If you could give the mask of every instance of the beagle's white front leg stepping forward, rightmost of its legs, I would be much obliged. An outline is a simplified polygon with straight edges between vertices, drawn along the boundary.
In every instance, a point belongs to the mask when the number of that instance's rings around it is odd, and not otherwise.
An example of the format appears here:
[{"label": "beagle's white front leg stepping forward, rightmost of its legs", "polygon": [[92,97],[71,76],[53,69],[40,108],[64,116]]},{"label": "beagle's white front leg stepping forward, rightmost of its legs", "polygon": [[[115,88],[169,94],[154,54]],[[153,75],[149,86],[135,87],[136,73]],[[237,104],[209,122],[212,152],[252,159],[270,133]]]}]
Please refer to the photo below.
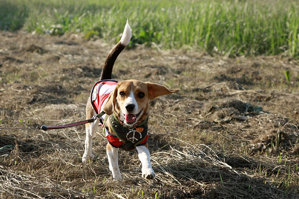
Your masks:
[{"label": "beagle's white front leg stepping forward, rightmost of its legs", "polygon": [[150,158],[149,158],[149,149],[147,145],[137,146],[138,157],[142,163],[142,177],[145,179],[154,179],[155,174],[151,168]]}]

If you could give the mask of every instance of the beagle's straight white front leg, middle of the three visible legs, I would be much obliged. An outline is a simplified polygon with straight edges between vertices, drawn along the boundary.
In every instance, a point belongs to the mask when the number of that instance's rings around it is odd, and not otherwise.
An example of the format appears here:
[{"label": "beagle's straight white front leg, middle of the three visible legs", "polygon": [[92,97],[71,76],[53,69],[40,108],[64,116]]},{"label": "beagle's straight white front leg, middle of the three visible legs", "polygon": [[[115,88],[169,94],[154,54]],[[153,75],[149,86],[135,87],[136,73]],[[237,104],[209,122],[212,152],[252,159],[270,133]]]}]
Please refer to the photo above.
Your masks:
[{"label": "beagle's straight white front leg, middle of the three visible legs", "polygon": [[112,178],[114,180],[121,180],[122,175],[118,166],[118,151],[119,148],[113,147],[111,144],[107,144],[106,153],[109,161],[109,169],[112,172]]}]

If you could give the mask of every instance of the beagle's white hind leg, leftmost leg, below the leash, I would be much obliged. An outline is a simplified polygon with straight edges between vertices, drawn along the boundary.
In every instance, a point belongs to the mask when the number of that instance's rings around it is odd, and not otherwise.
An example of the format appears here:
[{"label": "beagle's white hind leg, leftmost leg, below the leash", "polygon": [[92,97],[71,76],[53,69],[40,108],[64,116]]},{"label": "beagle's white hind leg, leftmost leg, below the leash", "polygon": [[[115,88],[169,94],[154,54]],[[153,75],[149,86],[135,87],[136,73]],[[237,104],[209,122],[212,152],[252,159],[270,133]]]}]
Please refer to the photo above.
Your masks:
[{"label": "beagle's white hind leg, leftmost leg, below the leash", "polygon": [[85,150],[82,157],[82,162],[87,162],[91,157],[92,138],[99,127],[99,120],[97,119],[93,123],[85,124],[86,138],[85,138]]}]

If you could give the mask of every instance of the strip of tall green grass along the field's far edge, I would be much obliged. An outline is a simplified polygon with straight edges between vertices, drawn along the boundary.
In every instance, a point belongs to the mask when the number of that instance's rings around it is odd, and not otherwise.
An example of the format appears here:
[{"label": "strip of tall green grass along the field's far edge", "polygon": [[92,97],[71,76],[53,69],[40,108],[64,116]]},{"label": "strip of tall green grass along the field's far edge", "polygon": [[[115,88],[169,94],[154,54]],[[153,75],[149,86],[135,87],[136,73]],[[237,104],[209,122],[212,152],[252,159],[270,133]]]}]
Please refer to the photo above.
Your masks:
[{"label": "strip of tall green grass along the field's far edge", "polygon": [[131,45],[193,48],[226,55],[299,56],[299,3],[293,0],[1,0],[0,29],[108,42],[126,19]]}]

